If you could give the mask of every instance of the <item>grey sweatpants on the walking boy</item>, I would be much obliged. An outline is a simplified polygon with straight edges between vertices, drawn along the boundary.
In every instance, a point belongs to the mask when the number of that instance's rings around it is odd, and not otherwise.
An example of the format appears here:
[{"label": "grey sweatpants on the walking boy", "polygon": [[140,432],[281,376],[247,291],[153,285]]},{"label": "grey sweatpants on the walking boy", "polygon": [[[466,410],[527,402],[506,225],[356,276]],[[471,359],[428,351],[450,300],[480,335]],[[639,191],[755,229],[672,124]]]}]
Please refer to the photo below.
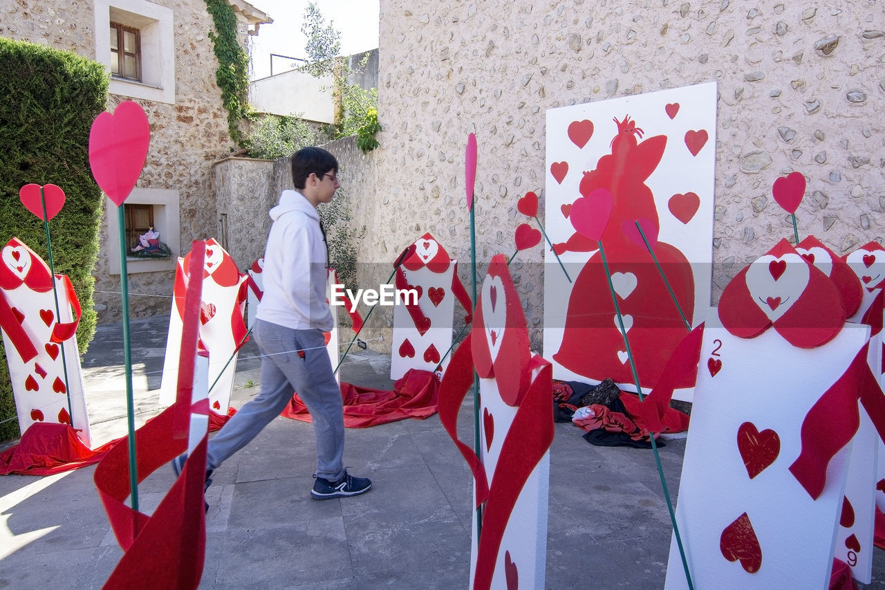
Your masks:
[{"label": "grey sweatpants on the walking boy", "polygon": [[[317,445],[317,477],[337,481],[344,476],[344,415],[341,389],[332,373],[323,334],[292,330],[258,320],[254,330],[261,359],[261,392],[225,423],[209,441],[206,469],[214,470],[227,457],[249,444],[280,415],[292,392],[311,412]],[[304,359],[296,351],[304,351]]]}]

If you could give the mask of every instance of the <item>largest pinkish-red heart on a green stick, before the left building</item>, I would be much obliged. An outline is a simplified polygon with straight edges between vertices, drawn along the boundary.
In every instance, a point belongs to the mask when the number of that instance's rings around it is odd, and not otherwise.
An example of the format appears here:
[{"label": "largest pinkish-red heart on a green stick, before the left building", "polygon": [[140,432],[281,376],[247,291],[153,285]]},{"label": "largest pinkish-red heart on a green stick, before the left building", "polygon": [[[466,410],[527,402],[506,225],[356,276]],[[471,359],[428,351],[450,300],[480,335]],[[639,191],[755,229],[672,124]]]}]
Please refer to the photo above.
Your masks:
[{"label": "largest pinkish-red heart on a green stick, before the left building", "polygon": [[142,174],[150,145],[148,116],[127,100],[111,113],[100,113],[89,129],[89,166],[98,186],[117,206]]}]

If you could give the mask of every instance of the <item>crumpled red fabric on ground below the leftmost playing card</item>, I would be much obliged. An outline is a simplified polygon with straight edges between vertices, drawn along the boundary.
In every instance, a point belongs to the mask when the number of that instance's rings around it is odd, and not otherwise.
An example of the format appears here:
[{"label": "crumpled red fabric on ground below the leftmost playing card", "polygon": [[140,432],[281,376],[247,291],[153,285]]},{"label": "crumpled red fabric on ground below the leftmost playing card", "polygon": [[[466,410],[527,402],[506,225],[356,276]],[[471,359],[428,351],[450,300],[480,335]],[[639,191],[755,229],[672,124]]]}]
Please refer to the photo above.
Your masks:
[{"label": "crumpled red fabric on ground below the leftmost playing card", "polygon": [[46,476],[101,461],[120,439],[90,449],[69,424],[35,422],[16,446],[0,453],[0,475]]}]

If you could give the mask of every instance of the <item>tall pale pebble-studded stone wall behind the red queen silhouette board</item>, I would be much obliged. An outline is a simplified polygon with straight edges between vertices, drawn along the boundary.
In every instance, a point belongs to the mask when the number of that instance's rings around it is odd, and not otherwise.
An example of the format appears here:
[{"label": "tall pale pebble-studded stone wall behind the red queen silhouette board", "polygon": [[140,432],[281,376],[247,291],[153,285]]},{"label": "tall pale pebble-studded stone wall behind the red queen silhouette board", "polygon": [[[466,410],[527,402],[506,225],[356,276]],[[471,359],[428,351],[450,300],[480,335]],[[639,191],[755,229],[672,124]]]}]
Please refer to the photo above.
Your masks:
[{"label": "tall pale pebble-studded stone wall behind the red queen silhouette board", "polygon": [[[360,260],[390,260],[425,231],[469,259],[471,132],[480,260],[509,255],[517,199],[534,190],[543,200],[547,109],[709,81],[719,89],[714,302],[739,268],[791,235],[771,186],[793,170],[808,179],[801,236],[840,254],[881,241],[883,23],[881,0],[381,0],[382,182]],[[542,248],[517,260],[540,350]]]}]

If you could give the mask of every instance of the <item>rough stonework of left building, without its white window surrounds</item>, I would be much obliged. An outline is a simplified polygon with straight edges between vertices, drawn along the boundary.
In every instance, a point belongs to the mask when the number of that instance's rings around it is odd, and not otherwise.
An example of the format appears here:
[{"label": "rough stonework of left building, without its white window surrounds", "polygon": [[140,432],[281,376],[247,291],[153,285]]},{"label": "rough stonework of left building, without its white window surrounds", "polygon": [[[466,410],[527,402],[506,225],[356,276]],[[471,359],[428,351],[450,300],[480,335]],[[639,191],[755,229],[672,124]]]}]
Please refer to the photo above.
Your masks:
[{"label": "rough stonework of left building, without its white window surrounds", "polygon": [[[194,239],[213,237],[217,228],[212,193],[212,162],[233,148],[227,134],[227,111],[215,84],[217,60],[209,31],[212,16],[203,0],[154,0],[174,11],[175,104],[137,100],[150,121],[150,151],[136,186],[179,191],[181,248]],[[237,13],[245,46],[247,23]],[[0,9],[0,35],[95,58],[96,32],[92,2],[16,0]],[[112,96],[112,110],[127,97]],[[162,236],[161,236],[162,239]],[[107,263],[108,228],[101,229],[102,251],[94,271],[99,322],[120,316],[119,268]],[[173,252],[175,255],[185,252]],[[130,275],[131,314],[168,314],[173,271]]]}]

